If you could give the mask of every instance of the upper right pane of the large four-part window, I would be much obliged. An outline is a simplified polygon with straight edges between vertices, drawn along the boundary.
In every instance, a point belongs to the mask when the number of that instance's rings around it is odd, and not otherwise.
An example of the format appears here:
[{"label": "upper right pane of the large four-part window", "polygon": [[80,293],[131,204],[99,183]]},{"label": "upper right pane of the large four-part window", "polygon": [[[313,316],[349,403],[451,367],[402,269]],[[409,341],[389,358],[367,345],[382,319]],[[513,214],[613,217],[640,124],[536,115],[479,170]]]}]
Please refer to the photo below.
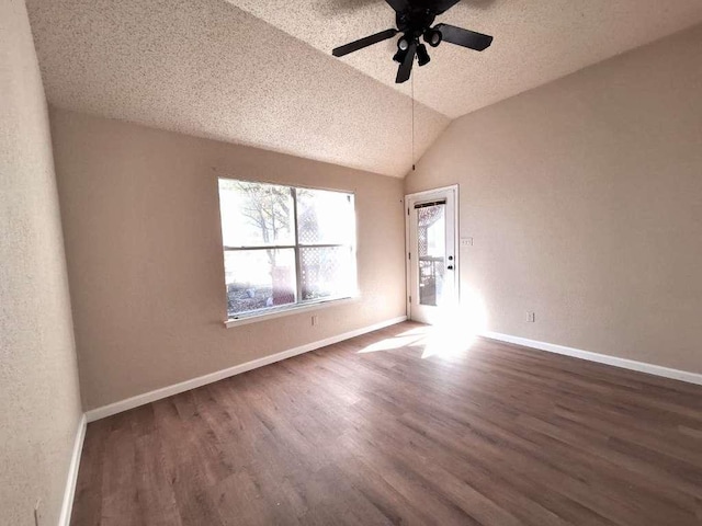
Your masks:
[{"label": "upper right pane of the large four-part window", "polygon": [[297,188],[299,244],[353,244],[353,195]]}]

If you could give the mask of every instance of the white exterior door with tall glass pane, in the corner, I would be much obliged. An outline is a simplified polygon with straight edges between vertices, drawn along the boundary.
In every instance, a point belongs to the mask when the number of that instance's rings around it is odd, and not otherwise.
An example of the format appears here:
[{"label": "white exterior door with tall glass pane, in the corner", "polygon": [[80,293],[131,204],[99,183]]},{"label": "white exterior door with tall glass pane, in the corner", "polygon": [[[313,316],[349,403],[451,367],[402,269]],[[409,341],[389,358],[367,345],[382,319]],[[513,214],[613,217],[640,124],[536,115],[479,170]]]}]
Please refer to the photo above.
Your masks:
[{"label": "white exterior door with tall glass pane, in the corner", "polygon": [[458,187],[407,195],[407,312],[434,324],[458,305]]}]

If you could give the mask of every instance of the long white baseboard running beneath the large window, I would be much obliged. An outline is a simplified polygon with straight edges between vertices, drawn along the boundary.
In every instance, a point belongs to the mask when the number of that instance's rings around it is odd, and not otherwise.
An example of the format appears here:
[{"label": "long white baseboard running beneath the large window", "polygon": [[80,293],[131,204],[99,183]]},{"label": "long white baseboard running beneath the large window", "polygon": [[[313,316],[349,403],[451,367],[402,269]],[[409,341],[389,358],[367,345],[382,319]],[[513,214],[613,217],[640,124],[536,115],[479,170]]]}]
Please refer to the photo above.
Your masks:
[{"label": "long white baseboard running beneath the large window", "polygon": [[240,375],[241,373],[246,373],[247,370],[256,369],[258,367],[263,367],[264,365],[280,362],[281,359],[297,356],[298,354],[307,353],[309,351],[325,347],[333,343],[339,343],[339,342],[342,342],[343,340],[349,340],[350,338],[360,336],[361,334],[365,334],[367,332],[377,331],[378,329],[384,329],[386,327],[400,323],[406,319],[407,319],[406,316],[400,316],[398,318],[385,320],[370,327],[356,329],[355,331],[344,332],[343,334],[327,338],[325,340],[319,340],[313,343],[307,343],[305,345],[301,345],[299,347],[288,348],[287,351],[283,351],[281,353],[271,354],[270,356],[263,356],[262,358],[258,358],[258,359],[252,359],[251,362],[235,365],[234,367],[228,367],[226,369],[217,370],[208,375],[199,376],[197,378],[192,378],[190,380],[181,381],[180,384],[174,384],[172,386],[163,387],[161,389],[156,389],[154,391],[145,392],[143,395],[137,395],[136,397],[127,398],[126,400],[121,400],[118,402],[114,402],[109,405],[103,405],[102,408],[91,409],[90,411],[86,412],[86,416],[88,419],[88,422],[94,422],[95,420],[104,419],[106,416],[111,416],[113,414],[117,414],[123,411],[127,411],[129,409],[138,408],[139,405],[155,402],[156,400],[160,400],[162,398],[168,398],[173,395],[178,395],[180,392],[189,391],[197,387],[206,386],[207,384],[213,384],[215,381],[229,378],[230,376]]}]

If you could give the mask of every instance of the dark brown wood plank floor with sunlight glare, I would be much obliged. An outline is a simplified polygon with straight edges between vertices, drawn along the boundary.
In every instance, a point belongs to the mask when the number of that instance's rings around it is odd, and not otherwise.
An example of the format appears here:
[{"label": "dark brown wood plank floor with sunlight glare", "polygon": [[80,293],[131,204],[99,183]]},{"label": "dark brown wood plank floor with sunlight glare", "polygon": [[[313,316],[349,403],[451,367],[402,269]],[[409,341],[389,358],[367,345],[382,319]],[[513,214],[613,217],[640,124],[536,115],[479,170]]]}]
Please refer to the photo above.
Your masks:
[{"label": "dark brown wood plank floor with sunlight glare", "polygon": [[91,423],[71,524],[702,524],[702,388],[424,331]]}]

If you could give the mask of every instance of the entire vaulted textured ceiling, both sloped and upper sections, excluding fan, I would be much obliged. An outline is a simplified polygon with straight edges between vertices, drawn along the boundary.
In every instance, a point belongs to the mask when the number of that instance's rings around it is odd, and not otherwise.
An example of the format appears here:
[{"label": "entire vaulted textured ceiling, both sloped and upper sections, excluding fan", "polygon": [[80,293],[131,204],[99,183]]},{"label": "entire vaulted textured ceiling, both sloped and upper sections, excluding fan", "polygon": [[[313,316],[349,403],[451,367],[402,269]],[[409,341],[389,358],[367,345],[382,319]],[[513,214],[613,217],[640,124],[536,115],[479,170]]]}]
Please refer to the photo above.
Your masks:
[{"label": "entire vaulted textured ceiling, both sloped and upper sections, excluding fan", "polygon": [[699,0],[463,0],[450,44],[394,83],[382,0],[27,0],[49,103],[403,176],[452,118],[702,21]]}]

